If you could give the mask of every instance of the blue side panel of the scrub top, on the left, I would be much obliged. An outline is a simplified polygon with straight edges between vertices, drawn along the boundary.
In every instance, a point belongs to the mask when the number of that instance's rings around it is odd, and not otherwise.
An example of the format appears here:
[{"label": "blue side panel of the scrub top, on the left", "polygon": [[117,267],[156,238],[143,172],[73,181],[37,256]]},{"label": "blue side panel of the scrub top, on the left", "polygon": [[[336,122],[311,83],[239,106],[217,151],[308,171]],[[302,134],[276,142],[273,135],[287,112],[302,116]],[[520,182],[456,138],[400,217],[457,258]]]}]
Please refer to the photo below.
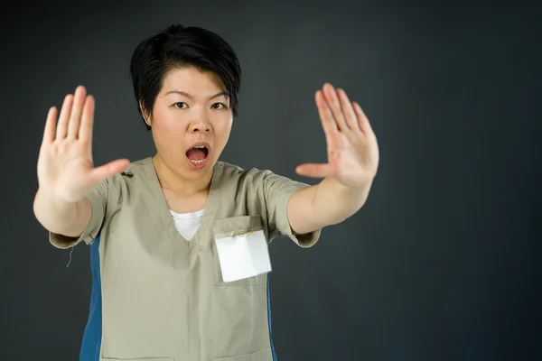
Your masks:
[{"label": "blue side panel of the scrub top, on the left", "polygon": [[83,334],[79,361],[99,361],[102,329],[101,278],[99,273],[99,240],[96,237],[90,245],[90,272],[92,273],[92,292],[90,294],[89,321]]}]

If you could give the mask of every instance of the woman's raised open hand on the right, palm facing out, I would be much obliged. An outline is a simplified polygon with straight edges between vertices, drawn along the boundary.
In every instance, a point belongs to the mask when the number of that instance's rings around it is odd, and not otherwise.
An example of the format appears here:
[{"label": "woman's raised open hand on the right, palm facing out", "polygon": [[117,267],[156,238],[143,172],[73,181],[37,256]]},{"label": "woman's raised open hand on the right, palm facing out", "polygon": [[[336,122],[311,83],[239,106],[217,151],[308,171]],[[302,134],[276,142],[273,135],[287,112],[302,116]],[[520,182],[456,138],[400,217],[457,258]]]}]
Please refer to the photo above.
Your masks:
[{"label": "woman's raised open hand on the right, palm facing out", "polygon": [[351,188],[369,185],[377,174],[378,143],[369,119],[344,90],[324,84],[315,94],[327,143],[328,162],[305,163],[295,171],[313,178],[333,178]]}]

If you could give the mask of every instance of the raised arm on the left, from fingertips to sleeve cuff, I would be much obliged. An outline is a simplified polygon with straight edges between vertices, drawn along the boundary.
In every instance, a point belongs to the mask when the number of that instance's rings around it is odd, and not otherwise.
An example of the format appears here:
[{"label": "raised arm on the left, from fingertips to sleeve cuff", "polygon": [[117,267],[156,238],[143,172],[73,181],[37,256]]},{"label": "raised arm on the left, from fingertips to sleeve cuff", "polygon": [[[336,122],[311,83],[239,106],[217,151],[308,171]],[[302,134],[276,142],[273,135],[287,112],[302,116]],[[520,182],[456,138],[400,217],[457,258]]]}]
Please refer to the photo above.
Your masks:
[{"label": "raised arm on the left, from fingertips to sleeve cuff", "polygon": [[107,204],[107,178],[126,169],[128,160],[94,167],[94,97],[78,87],[58,114],[47,115],[38,158],[38,191],[33,212],[50,232],[53,245],[66,248],[91,241],[101,227]]}]

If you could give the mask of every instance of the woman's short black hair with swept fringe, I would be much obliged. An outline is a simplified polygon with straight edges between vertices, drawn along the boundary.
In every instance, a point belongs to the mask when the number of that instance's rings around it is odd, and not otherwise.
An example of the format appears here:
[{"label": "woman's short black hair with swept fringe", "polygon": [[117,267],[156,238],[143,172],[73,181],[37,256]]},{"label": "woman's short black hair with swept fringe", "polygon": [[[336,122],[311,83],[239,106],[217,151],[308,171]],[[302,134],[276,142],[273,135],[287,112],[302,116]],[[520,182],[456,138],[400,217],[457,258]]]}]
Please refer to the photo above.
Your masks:
[{"label": "woman's short black hair with swept fringe", "polygon": [[[130,77],[139,114],[142,117],[144,113],[152,114],[154,101],[169,70],[191,66],[220,77],[228,92],[233,116],[237,116],[241,67],[235,51],[215,32],[181,24],[170,25],[135,47]],[[146,123],[145,126],[151,129]]]}]

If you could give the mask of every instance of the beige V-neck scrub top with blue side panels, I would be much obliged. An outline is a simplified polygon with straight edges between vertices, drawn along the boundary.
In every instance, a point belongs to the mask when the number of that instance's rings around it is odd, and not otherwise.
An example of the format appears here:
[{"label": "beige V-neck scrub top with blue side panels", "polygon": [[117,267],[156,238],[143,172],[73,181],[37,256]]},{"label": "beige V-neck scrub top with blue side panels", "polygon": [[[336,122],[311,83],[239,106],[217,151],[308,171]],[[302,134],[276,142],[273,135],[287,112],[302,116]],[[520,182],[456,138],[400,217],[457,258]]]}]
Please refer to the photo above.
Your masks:
[{"label": "beige V-neck scrub top with blue side panels", "polygon": [[263,230],[314,245],[321,230],[295,236],[286,208],[307,184],[227,162],[213,169],[201,226],[187,242],[174,226],[152,159],[132,162],[88,197],[79,238],[90,245],[92,296],[81,360],[274,361],[268,273],[223,282],[215,235]]}]

